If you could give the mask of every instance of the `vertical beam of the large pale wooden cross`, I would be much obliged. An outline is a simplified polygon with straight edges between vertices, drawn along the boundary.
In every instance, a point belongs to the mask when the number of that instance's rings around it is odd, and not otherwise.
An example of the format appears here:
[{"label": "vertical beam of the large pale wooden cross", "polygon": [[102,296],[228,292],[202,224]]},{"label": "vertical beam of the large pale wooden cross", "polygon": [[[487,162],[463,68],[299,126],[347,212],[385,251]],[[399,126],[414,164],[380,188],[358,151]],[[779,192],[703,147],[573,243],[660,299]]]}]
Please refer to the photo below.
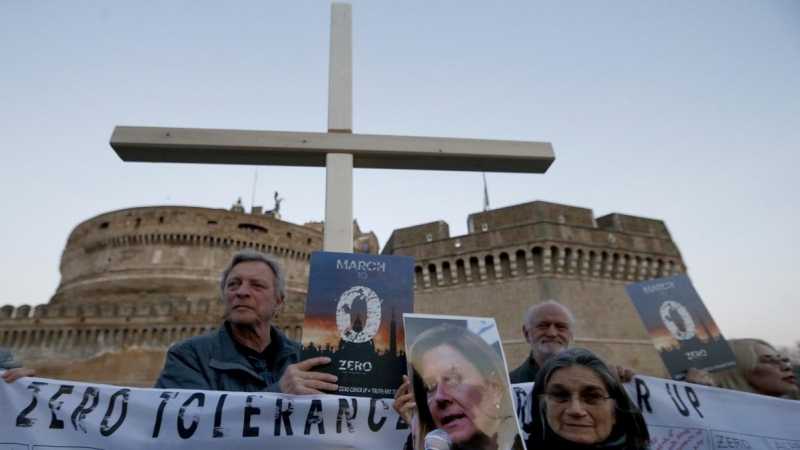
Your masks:
[{"label": "vertical beam of the large pale wooden cross", "polygon": [[[331,5],[328,132],[353,132],[352,6]],[[326,252],[353,252],[353,155],[328,153],[325,180]]]}]

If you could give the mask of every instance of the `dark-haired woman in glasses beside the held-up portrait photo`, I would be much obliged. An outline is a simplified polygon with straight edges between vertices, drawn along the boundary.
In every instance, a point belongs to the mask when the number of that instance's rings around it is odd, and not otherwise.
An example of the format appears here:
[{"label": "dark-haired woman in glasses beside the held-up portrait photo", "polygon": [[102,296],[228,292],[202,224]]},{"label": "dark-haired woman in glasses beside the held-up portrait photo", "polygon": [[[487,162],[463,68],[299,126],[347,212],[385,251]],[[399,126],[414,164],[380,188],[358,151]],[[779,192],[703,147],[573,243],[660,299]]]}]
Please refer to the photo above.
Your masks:
[{"label": "dark-haired woman in glasses beside the held-up portrait photo", "polygon": [[529,449],[649,448],[642,414],[609,366],[588,350],[565,350],[547,361],[531,398],[532,421],[524,427]]}]

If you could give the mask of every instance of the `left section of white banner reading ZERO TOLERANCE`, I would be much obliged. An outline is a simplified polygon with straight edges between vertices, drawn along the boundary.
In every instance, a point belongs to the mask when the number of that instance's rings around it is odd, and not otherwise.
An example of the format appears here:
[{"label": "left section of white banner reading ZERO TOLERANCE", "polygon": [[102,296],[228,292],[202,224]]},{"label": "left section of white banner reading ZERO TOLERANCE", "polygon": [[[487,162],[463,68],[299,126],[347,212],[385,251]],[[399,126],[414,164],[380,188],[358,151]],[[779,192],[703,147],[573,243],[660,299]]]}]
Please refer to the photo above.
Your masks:
[{"label": "left section of white banner reading ZERO TOLERANCE", "polygon": [[392,400],[0,381],[0,450],[401,450]]}]

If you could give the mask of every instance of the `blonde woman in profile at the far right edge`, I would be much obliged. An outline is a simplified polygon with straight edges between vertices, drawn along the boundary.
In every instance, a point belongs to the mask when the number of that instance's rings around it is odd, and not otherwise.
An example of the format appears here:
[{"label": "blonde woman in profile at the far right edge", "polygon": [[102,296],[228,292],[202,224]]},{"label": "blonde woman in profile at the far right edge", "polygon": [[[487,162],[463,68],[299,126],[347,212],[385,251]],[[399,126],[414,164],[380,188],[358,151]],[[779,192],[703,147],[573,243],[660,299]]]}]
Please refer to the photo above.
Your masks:
[{"label": "blonde woman in profile at the far right edge", "polygon": [[772,397],[797,394],[797,379],[789,358],[774,347],[759,339],[729,339],[728,344],[739,367],[712,373],[714,385]]}]

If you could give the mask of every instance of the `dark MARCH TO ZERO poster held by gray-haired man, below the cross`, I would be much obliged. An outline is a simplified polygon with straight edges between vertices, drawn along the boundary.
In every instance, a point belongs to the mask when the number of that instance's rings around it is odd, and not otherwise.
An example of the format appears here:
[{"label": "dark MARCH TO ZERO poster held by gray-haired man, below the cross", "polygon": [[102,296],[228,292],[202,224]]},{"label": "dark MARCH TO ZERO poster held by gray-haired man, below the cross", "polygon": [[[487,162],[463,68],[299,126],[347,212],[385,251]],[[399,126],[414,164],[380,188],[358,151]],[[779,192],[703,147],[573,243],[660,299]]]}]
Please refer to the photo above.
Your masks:
[{"label": "dark MARCH TO ZERO poster held by gray-haired man, below the cross", "polygon": [[337,394],[392,398],[413,309],[413,258],[313,252],[300,358],[331,358],[313,370],[339,377]]}]

